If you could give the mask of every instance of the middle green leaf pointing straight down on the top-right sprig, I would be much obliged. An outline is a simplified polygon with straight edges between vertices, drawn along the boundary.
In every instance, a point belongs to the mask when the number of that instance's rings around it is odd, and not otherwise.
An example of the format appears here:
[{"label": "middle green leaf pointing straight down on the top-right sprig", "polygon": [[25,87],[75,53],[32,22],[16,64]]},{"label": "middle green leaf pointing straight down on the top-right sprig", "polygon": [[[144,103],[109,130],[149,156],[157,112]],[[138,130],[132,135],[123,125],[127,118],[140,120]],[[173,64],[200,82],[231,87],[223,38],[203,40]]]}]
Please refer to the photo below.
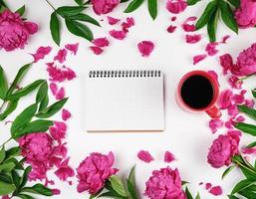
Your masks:
[{"label": "middle green leaf pointing straight down on the top-right sprig", "polygon": [[215,9],[215,11],[212,13],[210,20],[207,24],[207,32],[208,32],[210,42],[216,41],[218,18],[219,18],[219,10]]}]

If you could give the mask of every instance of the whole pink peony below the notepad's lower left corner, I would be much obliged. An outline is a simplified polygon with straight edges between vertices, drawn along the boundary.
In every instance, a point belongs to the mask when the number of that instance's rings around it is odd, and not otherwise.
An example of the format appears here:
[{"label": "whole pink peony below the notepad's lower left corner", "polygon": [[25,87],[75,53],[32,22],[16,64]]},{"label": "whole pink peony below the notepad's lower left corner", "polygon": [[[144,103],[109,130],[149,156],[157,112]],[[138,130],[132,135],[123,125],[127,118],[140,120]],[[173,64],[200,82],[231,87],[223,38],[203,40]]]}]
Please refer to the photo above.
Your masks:
[{"label": "whole pink peony below the notepad's lower left corner", "polygon": [[112,168],[114,161],[113,152],[108,155],[94,152],[86,157],[77,168],[78,192],[88,191],[90,194],[96,194],[101,190],[105,181],[118,172],[117,168]]}]

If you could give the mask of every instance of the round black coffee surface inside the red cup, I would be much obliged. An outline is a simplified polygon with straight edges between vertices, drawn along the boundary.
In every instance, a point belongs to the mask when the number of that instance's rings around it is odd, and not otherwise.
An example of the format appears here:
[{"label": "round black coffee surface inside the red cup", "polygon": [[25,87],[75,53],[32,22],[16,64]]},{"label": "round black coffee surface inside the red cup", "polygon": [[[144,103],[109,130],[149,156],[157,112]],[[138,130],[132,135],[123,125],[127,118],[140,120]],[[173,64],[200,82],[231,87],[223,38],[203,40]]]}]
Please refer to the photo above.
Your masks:
[{"label": "round black coffee surface inside the red cup", "polygon": [[213,98],[211,83],[203,76],[191,76],[181,87],[181,98],[192,108],[204,108],[210,104]]}]

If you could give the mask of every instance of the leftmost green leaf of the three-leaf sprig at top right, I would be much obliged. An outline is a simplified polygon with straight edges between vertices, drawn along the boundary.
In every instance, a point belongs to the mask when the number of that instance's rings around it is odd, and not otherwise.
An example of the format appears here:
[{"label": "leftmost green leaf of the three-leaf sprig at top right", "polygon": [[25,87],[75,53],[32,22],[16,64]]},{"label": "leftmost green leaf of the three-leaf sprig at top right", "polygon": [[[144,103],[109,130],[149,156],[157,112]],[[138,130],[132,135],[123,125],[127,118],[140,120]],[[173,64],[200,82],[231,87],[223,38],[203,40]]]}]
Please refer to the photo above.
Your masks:
[{"label": "leftmost green leaf of the three-leaf sprig at top right", "polygon": [[208,3],[208,5],[204,9],[201,17],[198,19],[198,21],[195,24],[196,30],[201,29],[208,23],[208,21],[210,20],[210,18],[212,16],[212,13],[214,13],[216,8],[217,8],[216,0],[213,0],[210,3]]}]

